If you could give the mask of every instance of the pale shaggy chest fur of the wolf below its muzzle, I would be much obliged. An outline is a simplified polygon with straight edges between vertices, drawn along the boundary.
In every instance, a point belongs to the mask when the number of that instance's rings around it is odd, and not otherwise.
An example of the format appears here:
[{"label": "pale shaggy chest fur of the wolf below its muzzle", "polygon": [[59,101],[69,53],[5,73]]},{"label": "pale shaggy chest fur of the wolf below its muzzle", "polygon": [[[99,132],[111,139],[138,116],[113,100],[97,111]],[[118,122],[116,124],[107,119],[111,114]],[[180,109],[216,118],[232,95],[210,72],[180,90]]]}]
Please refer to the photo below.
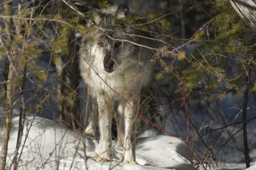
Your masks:
[{"label": "pale shaggy chest fur of the wolf below its muzzle", "polygon": [[[83,59],[82,59],[83,60]],[[94,68],[97,73],[85,61],[81,61],[81,75],[85,83],[89,86],[92,93],[105,93],[111,98],[116,98],[117,93],[121,96],[138,94],[142,85],[144,85],[149,76],[146,72],[140,72],[136,68],[124,69],[118,68],[112,73],[107,73],[101,68]],[[111,88],[115,91],[113,91]]]}]

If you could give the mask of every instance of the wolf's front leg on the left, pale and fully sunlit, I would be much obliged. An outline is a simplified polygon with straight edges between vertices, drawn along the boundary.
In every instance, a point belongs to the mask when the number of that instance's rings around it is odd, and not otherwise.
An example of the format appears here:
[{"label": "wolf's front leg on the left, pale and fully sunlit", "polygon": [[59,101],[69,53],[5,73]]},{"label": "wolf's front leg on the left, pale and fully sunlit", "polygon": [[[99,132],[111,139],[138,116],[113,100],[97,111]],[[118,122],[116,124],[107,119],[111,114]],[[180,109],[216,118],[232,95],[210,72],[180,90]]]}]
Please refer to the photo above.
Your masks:
[{"label": "wolf's front leg on the left, pale and fully sunlit", "polygon": [[97,97],[99,106],[99,125],[100,125],[100,143],[99,143],[99,158],[98,162],[106,162],[111,159],[112,152],[112,137],[111,137],[111,122],[113,114],[113,102],[107,101],[103,97]]}]

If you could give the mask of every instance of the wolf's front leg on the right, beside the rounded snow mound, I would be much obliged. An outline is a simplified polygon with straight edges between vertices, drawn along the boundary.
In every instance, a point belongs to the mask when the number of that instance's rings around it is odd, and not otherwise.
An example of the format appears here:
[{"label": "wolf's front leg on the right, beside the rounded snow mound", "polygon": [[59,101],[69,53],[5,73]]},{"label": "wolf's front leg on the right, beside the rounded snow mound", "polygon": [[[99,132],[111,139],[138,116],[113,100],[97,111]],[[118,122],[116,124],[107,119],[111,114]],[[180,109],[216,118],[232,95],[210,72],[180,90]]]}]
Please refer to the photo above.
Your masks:
[{"label": "wolf's front leg on the right, beside the rounded snow mound", "polygon": [[[130,102],[133,106],[135,106],[135,101]],[[136,108],[136,106],[135,106]],[[135,111],[128,104],[125,103],[125,134],[123,141],[123,162],[124,163],[132,163],[137,164],[135,160],[135,140],[133,135],[133,124],[135,123]]]}]

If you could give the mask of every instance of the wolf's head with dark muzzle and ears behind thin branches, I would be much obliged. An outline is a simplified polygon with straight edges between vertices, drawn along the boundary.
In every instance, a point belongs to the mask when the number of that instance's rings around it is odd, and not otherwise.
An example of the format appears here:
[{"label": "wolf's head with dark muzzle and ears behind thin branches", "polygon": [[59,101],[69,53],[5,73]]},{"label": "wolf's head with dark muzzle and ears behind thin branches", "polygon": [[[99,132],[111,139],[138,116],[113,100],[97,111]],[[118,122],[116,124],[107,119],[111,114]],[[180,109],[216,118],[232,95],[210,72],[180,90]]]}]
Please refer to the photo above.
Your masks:
[{"label": "wolf's head with dark muzzle and ears behind thin branches", "polygon": [[133,15],[126,5],[105,8],[102,9],[102,13],[104,15],[92,15],[93,21],[99,27],[88,24],[88,27],[93,29],[83,43],[86,51],[90,52],[89,56],[94,65],[97,65],[98,69],[111,73],[131,63],[132,53],[135,50],[131,42],[136,42],[137,38],[132,35],[134,30],[131,27],[122,24],[125,18]]}]

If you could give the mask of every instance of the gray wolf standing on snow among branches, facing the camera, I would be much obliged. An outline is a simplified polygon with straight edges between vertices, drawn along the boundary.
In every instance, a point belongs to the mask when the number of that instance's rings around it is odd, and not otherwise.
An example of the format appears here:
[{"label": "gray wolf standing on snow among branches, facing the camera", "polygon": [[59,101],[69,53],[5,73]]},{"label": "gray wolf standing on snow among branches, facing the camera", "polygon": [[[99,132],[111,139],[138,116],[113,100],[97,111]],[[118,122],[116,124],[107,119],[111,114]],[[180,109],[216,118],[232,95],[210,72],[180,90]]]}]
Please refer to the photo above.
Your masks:
[{"label": "gray wolf standing on snow among branches, facing the camera", "polygon": [[92,15],[98,27],[87,24],[89,31],[83,37],[80,49],[81,76],[92,95],[92,101],[97,101],[98,106],[98,116],[91,116],[90,125],[85,131],[94,133],[95,120],[99,119],[99,156],[96,160],[110,161],[111,122],[115,113],[117,144],[123,147],[123,162],[136,164],[133,139],[136,111],[120,96],[137,108],[140,89],[148,84],[152,72],[150,61],[154,51],[145,46],[153,47],[154,42],[146,38],[150,35],[144,31],[117,22],[135,15],[128,6],[114,5],[102,9],[102,13],[104,15]]}]

